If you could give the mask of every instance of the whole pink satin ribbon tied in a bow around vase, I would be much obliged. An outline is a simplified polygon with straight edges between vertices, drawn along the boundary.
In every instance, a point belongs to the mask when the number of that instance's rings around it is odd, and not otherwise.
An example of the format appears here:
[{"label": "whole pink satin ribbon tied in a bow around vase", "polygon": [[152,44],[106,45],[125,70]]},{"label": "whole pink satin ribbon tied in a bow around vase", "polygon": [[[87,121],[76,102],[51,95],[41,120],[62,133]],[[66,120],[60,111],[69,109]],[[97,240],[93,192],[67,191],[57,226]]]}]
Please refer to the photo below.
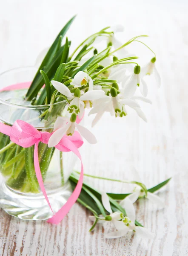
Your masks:
[{"label": "whole pink satin ribbon tied in a bow around vase", "polygon": [[[30,84],[31,82],[13,84],[9,87],[6,87],[6,89],[3,89],[3,90],[15,90],[15,89],[26,88]],[[77,120],[77,122],[79,121],[80,120]],[[10,140],[12,142],[16,143],[17,145],[20,145],[23,148],[29,148],[32,145],[34,145],[35,173],[37,176],[40,189],[43,192],[43,195],[51,211],[53,212],[48,196],[46,194],[45,187],[44,187],[43,178],[40,171],[39,159],[38,159],[38,144],[40,142],[48,144],[48,140],[51,134],[46,131],[45,132],[38,131],[32,125],[22,120],[17,120],[16,122],[14,122],[12,126],[0,123],[0,132],[10,136]],[[80,148],[81,145],[83,145],[83,140],[80,134],[77,131],[75,131],[73,136],[64,135],[63,138],[60,140],[60,142],[55,146],[55,148],[57,148],[62,152],[72,151],[74,154],[76,154],[81,161],[81,172],[80,172],[80,179],[78,180],[77,186],[75,187],[71,196],[68,198],[68,201],[66,202],[66,204],[64,204],[63,207],[59,209],[59,211],[56,212],[55,214],[53,212],[54,215],[50,219],[48,219],[48,222],[51,224],[59,224],[60,221],[62,221],[63,218],[66,216],[66,214],[69,212],[73,204],[77,201],[80,195],[82,185],[83,185],[83,163],[82,163],[82,158],[81,158],[80,152],[78,151],[78,148]]]}]

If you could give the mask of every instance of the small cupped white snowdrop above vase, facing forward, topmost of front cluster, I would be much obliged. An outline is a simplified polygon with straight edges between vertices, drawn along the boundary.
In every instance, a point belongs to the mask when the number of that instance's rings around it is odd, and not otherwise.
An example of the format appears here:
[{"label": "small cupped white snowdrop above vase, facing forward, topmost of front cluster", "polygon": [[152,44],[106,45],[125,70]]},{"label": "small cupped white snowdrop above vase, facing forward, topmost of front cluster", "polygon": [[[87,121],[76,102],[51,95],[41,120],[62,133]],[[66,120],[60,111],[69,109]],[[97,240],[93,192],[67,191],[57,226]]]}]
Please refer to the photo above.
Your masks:
[{"label": "small cupped white snowdrop above vase, facing forward, topmost of front cluster", "polygon": [[93,80],[87,73],[79,71],[75,76],[73,81],[70,83],[74,87],[81,87],[83,85],[89,84],[89,90],[93,90]]}]

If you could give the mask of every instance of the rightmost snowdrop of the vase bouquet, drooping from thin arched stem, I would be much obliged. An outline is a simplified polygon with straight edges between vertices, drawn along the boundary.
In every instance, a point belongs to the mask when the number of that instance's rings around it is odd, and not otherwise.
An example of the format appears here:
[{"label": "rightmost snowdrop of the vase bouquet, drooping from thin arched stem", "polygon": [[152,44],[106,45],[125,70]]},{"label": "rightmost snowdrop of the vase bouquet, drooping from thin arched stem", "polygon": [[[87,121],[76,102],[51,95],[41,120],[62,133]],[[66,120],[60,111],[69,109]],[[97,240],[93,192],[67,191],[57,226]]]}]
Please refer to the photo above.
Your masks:
[{"label": "rightmost snowdrop of the vase bouquet, drooping from thin arched stem", "polygon": [[154,77],[156,79],[157,82],[157,86],[160,87],[161,85],[161,78],[160,78],[160,74],[157,71],[157,68],[155,67],[155,62],[156,62],[156,58],[152,58],[151,61],[145,65],[145,67],[143,67],[142,69],[142,76],[146,76],[146,75],[151,75],[154,74]]}]

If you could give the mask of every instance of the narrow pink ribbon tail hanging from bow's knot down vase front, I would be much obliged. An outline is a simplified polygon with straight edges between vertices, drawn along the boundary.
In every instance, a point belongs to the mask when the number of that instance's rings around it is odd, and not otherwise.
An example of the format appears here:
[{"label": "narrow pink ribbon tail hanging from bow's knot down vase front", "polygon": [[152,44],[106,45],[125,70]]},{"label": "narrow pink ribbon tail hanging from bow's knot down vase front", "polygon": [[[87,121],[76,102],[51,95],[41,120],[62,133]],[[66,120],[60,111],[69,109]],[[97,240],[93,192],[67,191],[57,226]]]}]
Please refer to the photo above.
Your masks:
[{"label": "narrow pink ribbon tail hanging from bow's knot down vase front", "polygon": [[[52,208],[51,208],[51,204],[49,202],[48,196],[46,194],[46,189],[44,187],[44,183],[43,183],[43,177],[41,175],[41,171],[40,171],[40,165],[39,165],[39,156],[38,156],[38,142],[34,144],[34,169],[35,169],[35,173],[37,176],[37,180],[40,186],[41,191],[43,192],[43,195],[51,209],[51,211],[53,212]],[[53,212],[54,214],[54,212]]]}]

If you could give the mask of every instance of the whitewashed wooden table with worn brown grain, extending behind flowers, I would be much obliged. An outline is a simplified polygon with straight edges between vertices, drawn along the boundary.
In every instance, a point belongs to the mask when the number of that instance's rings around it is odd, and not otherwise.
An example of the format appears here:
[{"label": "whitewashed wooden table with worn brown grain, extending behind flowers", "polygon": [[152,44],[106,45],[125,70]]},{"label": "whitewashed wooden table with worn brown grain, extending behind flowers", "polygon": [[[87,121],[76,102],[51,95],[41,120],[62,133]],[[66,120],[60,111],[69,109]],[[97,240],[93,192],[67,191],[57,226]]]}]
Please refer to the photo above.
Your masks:
[{"label": "whitewashed wooden table with worn brown grain, extending behind flowers", "polygon": [[[143,182],[151,187],[173,177],[158,193],[165,209],[140,200],[137,220],[155,233],[153,240],[125,238],[107,240],[102,227],[88,230],[90,213],[75,204],[58,226],[46,221],[20,221],[0,210],[0,255],[2,256],[184,256],[188,254],[188,4],[186,1],[151,3],[140,1],[0,1],[0,71],[34,65],[37,54],[54,40],[66,21],[78,13],[68,32],[76,46],[82,38],[102,27],[125,25],[127,40],[148,34],[156,51],[162,87],[150,85],[150,108],[145,105],[148,123],[134,113],[111,124],[118,131],[110,145],[99,143],[83,148],[85,173],[126,179],[134,165]],[[146,42],[146,41],[145,41]],[[135,43],[148,59],[152,56]],[[146,53],[145,53],[146,52]],[[100,127],[94,132],[99,138]],[[121,126],[120,126],[121,125]],[[109,147],[111,146],[111,148]],[[99,153],[100,150],[100,153]],[[122,183],[87,179],[97,189],[125,192]]]}]

